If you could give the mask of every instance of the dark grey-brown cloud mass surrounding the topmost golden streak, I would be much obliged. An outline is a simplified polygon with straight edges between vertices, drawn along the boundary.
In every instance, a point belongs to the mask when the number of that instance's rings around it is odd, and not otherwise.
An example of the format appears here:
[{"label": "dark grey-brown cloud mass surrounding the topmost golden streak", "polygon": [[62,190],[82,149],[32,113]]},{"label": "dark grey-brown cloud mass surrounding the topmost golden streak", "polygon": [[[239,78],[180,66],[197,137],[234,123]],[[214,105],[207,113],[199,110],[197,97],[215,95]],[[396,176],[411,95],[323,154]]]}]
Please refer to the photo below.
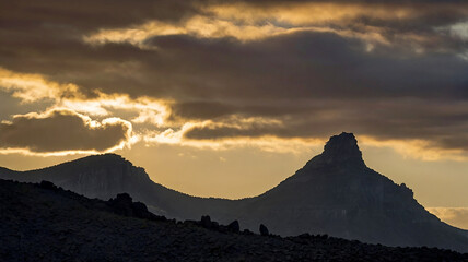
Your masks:
[{"label": "dark grey-brown cloud mass surrounding the topmost golden streak", "polygon": [[[265,7],[279,3],[253,2]],[[437,87],[442,85],[446,88],[444,96],[466,93],[460,87],[466,85],[466,78],[459,73],[467,69],[466,63],[454,52],[416,56],[398,48],[398,45],[366,52],[361,40],[331,33],[299,33],[254,43],[239,43],[232,38],[160,36],[147,41],[159,48],[153,51],[141,50],[130,44],[96,47],[83,43],[84,31],[114,28],[151,19],[178,21],[201,11],[179,1],[157,4],[153,1],[138,4],[93,1],[79,7],[62,1],[34,4],[14,1],[8,4],[12,7],[5,5],[8,8],[3,10],[11,12],[1,16],[4,29],[0,32],[0,64],[15,71],[44,73],[57,81],[70,81],[84,90],[221,100],[253,95],[273,98],[434,96],[438,95]],[[385,28],[384,35],[388,38],[401,31],[424,35],[428,32],[434,34],[433,26],[466,17],[458,15],[465,10],[463,8],[445,10],[437,9],[437,4],[423,4],[420,8],[422,14],[414,15],[409,23],[360,17],[353,29],[365,31],[365,27],[358,28],[359,25],[376,24]],[[424,10],[437,12],[428,14]],[[428,45],[448,49],[456,47],[457,50],[463,47],[463,43],[454,39]]]}]

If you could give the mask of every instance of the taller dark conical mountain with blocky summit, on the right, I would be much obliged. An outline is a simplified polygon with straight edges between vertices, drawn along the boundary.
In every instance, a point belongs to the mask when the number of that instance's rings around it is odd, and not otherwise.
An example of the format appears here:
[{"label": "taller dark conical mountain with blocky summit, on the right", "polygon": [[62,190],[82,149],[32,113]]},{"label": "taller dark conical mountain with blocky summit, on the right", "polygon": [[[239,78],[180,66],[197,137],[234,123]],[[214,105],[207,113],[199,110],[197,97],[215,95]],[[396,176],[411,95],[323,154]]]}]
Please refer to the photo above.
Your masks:
[{"label": "taller dark conical mountain with blocky summit, on the right", "polygon": [[253,200],[248,217],[262,217],[282,235],[315,231],[393,246],[468,247],[465,233],[426,212],[409,188],[366,167],[348,133],[332,136],[323,154]]}]

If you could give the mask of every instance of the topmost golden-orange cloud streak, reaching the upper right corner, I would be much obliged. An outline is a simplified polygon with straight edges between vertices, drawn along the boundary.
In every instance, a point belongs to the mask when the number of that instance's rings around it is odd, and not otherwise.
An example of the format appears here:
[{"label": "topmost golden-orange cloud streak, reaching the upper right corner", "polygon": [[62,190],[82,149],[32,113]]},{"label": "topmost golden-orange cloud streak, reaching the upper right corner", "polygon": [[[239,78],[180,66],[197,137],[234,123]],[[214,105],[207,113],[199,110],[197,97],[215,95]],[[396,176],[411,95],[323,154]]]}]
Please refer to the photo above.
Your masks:
[{"label": "topmost golden-orange cloud streak, reaching the upper right corner", "polygon": [[446,51],[457,49],[463,41],[434,27],[455,28],[468,14],[467,4],[446,1],[406,4],[395,1],[212,1],[197,7],[198,12],[192,16],[176,23],[152,20],[128,27],[100,29],[83,39],[90,44],[130,43],[152,48],[145,45],[147,39],[166,35],[251,41],[296,32],[329,32],[361,39],[367,50],[383,45],[406,46],[418,52]]}]

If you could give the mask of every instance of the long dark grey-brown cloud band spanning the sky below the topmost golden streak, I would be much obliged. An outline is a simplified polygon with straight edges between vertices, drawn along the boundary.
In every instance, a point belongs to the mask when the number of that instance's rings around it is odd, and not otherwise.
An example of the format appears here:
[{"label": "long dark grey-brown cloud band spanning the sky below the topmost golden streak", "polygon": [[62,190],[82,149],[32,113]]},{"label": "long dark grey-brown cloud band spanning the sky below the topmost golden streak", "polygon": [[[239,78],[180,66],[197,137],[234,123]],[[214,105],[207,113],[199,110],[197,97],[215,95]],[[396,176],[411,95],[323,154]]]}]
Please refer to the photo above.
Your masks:
[{"label": "long dark grey-brown cloud band spanning the sky below the topmost golden streak", "polygon": [[[8,38],[5,38],[8,39]],[[7,68],[43,72],[84,90],[187,99],[317,96],[466,96],[466,61],[452,53],[366,52],[360,40],[300,33],[239,44],[233,39],[165,36],[160,50],[126,44],[70,49],[2,45]],[[16,46],[11,50],[12,46]],[[5,50],[9,48],[9,50]],[[21,52],[17,50],[23,49]],[[8,67],[8,66],[9,67]],[[339,78],[337,76],[339,75]]]}]

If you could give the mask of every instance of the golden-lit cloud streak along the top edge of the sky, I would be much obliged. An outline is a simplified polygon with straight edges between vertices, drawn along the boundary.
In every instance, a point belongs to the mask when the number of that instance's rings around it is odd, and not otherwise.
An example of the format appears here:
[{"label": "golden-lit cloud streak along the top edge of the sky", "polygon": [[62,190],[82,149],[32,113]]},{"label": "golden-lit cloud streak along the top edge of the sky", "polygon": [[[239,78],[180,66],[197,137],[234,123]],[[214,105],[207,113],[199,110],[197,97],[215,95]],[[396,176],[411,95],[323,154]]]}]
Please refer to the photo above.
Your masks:
[{"label": "golden-lit cloud streak along the top edge of the sky", "polygon": [[393,45],[408,43],[414,51],[423,51],[424,44],[437,41],[424,34],[391,33],[385,26],[363,23],[374,21],[409,21],[431,15],[436,10],[454,10],[468,14],[468,9],[451,4],[361,4],[361,3],[272,3],[250,4],[245,2],[199,5],[199,13],[179,22],[149,21],[121,28],[105,28],[86,35],[84,41],[92,45],[105,43],[130,43],[143,49],[145,40],[155,36],[190,35],[198,38],[232,37],[241,41],[253,41],[295,32],[329,32],[342,37],[359,38],[372,50],[376,44]]}]

